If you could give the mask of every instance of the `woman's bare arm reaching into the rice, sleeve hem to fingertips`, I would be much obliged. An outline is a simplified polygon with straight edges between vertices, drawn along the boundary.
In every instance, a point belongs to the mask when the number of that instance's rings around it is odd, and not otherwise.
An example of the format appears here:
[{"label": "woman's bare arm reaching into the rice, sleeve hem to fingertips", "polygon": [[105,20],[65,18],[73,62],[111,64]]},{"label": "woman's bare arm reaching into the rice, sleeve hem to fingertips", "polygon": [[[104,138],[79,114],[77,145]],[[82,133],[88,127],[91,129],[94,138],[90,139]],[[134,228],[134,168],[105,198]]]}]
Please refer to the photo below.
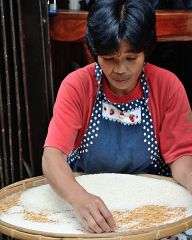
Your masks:
[{"label": "woman's bare arm reaching into the rice, sleeve hem to fingertips", "polygon": [[67,156],[52,147],[44,149],[43,172],[52,188],[75,210],[89,232],[115,231],[115,221],[101,198],[88,193],[75,180]]}]

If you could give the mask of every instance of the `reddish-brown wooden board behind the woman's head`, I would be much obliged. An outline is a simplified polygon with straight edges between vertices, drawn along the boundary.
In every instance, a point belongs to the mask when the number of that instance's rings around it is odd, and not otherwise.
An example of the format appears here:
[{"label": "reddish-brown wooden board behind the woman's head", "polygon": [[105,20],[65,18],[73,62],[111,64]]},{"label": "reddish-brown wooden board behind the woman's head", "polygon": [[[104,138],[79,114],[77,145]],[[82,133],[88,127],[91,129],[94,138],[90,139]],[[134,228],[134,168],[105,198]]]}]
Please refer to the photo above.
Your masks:
[{"label": "reddish-brown wooden board behind the woman's head", "polygon": [[[57,41],[84,41],[86,11],[59,11],[50,16],[50,35]],[[192,11],[157,11],[157,40],[159,42],[192,41]]]}]

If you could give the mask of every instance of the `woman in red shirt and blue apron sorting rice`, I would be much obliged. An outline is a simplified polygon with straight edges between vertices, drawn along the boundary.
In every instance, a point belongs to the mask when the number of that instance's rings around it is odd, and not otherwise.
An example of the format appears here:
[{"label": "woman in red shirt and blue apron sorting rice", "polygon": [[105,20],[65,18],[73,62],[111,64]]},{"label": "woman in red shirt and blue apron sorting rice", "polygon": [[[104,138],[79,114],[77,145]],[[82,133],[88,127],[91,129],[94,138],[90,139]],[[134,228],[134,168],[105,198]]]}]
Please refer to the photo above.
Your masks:
[{"label": "woman in red shirt and blue apron sorting rice", "polygon": [[145,62],[155,41],[148,1],[95,1],[87,42],[97,63],[69,74],[58,92],[43,171],[90,232],[114,231],[115,222],[72,170],[172,174],[192,192],[191,109],[177,77]]}]

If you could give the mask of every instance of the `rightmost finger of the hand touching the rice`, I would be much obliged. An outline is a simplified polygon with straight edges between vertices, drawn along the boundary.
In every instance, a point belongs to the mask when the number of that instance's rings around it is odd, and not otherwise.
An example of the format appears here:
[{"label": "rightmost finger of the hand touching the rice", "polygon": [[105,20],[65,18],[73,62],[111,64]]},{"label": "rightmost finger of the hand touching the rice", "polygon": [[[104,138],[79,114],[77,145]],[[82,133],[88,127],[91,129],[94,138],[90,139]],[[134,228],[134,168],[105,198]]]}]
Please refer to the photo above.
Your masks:
[{"label": "rightmost finger of the hand touching the rice", "polygon": [[112,213],[109,211],[109,209],[106,207],[105,203],[99,206],[99,211],[101,215],[105,218],[105,221],[107,222],[108,226],[110,227],[111,231],[115,231],[117,229],[115,220],[113,218]]}]

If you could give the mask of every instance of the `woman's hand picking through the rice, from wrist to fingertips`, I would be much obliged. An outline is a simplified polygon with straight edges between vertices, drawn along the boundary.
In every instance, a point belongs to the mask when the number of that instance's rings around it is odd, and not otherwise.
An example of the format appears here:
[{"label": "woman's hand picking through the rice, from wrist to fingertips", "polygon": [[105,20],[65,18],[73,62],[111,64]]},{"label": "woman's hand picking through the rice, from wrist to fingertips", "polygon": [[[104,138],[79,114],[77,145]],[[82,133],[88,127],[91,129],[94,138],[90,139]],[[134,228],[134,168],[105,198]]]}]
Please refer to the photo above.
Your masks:
[{"label": "woman's hand picking through the rice, from wrist to fingertips", "polygon": [[115,231],[113,216],[101,198],[83,191],[76,194],[71,205],[87,231],[91,233]]}]

